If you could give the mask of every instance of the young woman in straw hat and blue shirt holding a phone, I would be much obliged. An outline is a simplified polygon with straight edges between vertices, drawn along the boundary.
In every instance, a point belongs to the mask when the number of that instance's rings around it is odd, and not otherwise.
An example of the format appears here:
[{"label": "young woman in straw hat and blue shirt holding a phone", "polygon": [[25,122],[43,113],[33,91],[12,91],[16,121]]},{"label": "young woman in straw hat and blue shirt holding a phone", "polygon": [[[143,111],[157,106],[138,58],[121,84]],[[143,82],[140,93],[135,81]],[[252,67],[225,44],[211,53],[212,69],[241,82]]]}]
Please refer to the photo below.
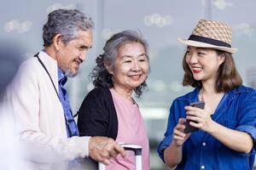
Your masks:
[{"label": "young woman in straw hat and blue shirt holding a phone", "polygon": [[[256,93],[241,85],[231,48],[231,29],[200,20],[183,57],[183,85],[195,88],[172,103],[160,158],[176,169],[252,169],[256,138]],[[205,102],[204,109],[189,106]],[[184,133],[190,121],[199,130]]]}]

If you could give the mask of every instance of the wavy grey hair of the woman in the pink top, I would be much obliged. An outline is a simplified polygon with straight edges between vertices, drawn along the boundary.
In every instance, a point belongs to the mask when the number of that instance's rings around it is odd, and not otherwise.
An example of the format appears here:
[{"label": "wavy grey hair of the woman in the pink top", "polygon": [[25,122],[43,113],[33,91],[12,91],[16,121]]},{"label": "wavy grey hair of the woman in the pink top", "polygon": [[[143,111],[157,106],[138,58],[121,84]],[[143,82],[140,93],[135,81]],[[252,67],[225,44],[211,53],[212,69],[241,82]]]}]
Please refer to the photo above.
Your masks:
[{"label": "wavy grey hair of the woman in the pink top", "polygon": [[[118,48],[129,42],[141,43],[148,58],[148,43],[143,39],[140,33],[127,30],[114,34],[105,43],[103,54],[96,58],[96,67],[90,72],[90,78],[93,80],[95,87],[113,88],[112,75],[108,72],[106,65],[108,65],[110,69],[113,69]],[[140,86],[135,88],[134,91],[137,97],[143,94],[144,88],[147,88],[146,82],[143,82]]]}]

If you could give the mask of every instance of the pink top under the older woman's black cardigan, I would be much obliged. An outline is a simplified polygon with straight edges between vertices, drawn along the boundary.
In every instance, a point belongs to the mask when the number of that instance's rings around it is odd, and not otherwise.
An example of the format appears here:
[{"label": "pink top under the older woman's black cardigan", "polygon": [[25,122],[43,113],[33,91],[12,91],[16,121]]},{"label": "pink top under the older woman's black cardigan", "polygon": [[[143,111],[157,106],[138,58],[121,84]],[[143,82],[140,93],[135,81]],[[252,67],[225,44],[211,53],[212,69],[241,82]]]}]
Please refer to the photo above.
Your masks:
[{"label": "pink top under the older woman's black cardigan", "polygon": [[[117,94],[113,88],[110,89],[113,104],[117,112],[119,129],[116,142],[126,144],[138,144],[143,147],[143,170],[149,170],[149,144],[143,117],[136,104]],[[107,170],[135,170],[135,156],[133,151],[126,150],[125,158],[117,156],[112,158]]]}]

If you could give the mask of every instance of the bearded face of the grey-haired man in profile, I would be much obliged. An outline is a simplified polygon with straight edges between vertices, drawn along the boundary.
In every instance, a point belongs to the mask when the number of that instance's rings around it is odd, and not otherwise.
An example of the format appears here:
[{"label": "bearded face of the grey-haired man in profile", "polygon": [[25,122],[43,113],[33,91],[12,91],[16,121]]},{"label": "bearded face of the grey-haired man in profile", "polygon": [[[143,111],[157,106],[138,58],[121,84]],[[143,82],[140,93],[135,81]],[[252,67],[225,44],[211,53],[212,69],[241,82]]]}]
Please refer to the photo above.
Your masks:
[{"label": "bearded face of the grey-haired man in profile", "polygon": [[86,59],[86,54],[92,46],[92,31],[78,31],[76,38],[67,42],[60,42],[60,48],[56,52],[56,60],[61,71],[67,77],[75,77],[79,71],[79,65]]}]

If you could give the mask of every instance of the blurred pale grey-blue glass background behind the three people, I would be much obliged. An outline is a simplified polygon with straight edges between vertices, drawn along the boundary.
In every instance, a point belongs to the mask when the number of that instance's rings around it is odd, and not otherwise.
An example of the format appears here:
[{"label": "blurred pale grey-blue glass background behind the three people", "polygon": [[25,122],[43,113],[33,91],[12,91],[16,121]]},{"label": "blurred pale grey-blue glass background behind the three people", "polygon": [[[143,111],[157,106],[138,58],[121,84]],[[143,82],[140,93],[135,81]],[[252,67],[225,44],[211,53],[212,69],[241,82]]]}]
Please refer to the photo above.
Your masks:
[{"label": "blurred pale grey-blue glass background behind the three people", "polygon": [[[151,169],[166,169],[156,147],[166,130],[172,99],[191,90],[181,85],[185,47],[177,37],[188,38],[201,19],[224,21],[233,30],[232,47],[244,84],[256,88],[256,1],[254,0],[22,0],[1,1],[1,47],[22,47],[20,59],[33,57],[43,48],[42,27],[47,14],[57,8],[78,8],[95,22],[94,45],[79,76],[69,79],[68,91],[73,112],[93,88],[88,75],[102,54],[106,40],[118,31],[135,29],[148,40],[151,72],[148,91],[136,99],[148,128]],[[4,41],[3,41],[4,40]],[[6,41],[5,41],[6,40]],[[15,45],[14,45],[15,44]],[[1,56],[2,59],[2,56]]]}]

